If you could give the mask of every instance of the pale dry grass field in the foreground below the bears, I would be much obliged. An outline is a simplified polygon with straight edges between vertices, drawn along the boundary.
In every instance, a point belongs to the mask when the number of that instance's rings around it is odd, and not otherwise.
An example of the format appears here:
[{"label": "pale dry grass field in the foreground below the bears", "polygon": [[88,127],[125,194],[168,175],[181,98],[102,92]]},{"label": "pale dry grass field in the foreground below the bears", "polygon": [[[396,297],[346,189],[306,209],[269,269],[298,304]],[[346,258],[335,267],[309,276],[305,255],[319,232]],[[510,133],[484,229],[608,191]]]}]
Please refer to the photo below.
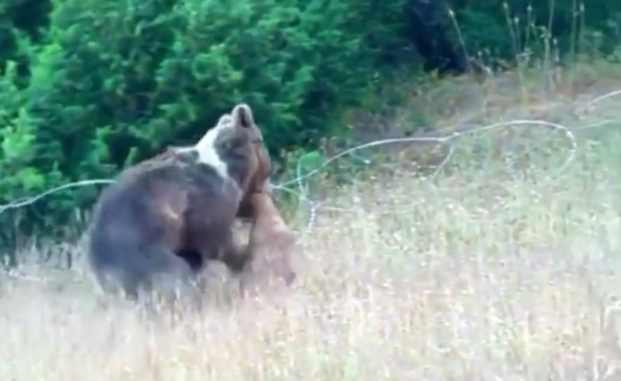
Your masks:
[{"label": "pale dry grass field in the foreground below the bears", "polygon": [[620,380],[621,136],[606,131],[576,134],[560,173],[543,131],[502,152],[464,141],[433,181],[376,168],[322,204],[291,292],[182,324],[95,303],[79,266],[74,282],[5,280],[0,380]]}]

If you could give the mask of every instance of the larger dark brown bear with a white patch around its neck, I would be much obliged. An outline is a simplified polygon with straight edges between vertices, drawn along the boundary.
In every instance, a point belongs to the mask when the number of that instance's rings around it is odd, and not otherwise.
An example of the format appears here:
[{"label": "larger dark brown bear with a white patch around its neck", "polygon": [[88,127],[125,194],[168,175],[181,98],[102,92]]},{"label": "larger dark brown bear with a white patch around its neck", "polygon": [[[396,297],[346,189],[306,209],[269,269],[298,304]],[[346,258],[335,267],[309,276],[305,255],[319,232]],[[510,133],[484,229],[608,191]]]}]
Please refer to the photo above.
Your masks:
[{"label": "larger dark brown bear with a white patch around its neck", "polygon": [[[89,227],[87,258],[99,285],[119,285],[131,299],[155,292],[200,303],[194,275],[202,259],[241,271],[248,248],[236,245],[231,229],[236,217],[252,217],[248,197],[269,172],[269,163],[259,163],[264,150],[252,110],[239,104],[193,147],[170,148],[120,173]],[[184,252],[198,252],[199,263]]]}]

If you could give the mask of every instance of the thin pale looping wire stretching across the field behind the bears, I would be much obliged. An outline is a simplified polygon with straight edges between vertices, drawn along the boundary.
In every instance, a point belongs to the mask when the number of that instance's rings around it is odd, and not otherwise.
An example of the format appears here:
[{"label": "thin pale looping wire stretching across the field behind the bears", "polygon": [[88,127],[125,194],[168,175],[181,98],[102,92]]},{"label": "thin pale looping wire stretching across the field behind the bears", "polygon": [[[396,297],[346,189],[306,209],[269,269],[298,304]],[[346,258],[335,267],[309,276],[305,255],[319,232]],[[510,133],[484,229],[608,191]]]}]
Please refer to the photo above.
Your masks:
[{"label": "thin pale looping wire stretching across the field behind the bears", "polygon": [[[601,102],[604,101],[605,99],[609,99],[612,98],[613,96],[618,96],[621,95],[621,90],[615,90],[612,92],[608,92],[606,94],[603,94],[601,96],[597,96],[596,98],[586,102],[583,104],[582,108],[577,108],[576,111],[579,112],[590,112],[592,110],[594,110],[594,106]],[[566,127],[563,124],[559,124],[559,123],[555,123],[555,122],[549,122],[546,120],[528,120],[528,119],[523,119],[523,120],[510,120],[508,122],[496,122],[496,123],[492,123],[492,124],[487,124],[485,126],[480,126],[480,127],[475,127],[475,128],[471,128],[471,129],[466,129],[464,131],[454,131],[450,134],[446,134],[445,136],[438,136],[438,137],[429,137],[429,136],[413,136],[413,137],[404,137],[404,138],[386,138],[386,139],[380,139],[380,140],[376,140],[376,141],[371,141],[369,143],[363,143],[360,145],[356,145],[355,147],[352,148],[348,148],[347,150],[343,150],[342,152],[339,152],[338,154],[334,154],[333,156],[329,157],[328,159],[324,160],[319,166],[317,166],[316,168],[314,168],[312,171],[309,171],[308,173],[305,173],[304,175],[301,174],[301,161],[302,159],[300,158],[297,162],[297,166],[296,166],[296,175],[297,177],[292,179],[292,180],[287,180],[285,182],[281,182],[280,184],[271,184],[271,187],[273,189],[278,189],[281,190],[283,192],[287,192],[289,194],[293,194],[294,196],[297,197],[298,199],[298,207],[301,205],[301,203],[306,203],[308,206],[308,219],[306,220],[306,223],[304,225],[304,228],[302,229],[301,233],[299,234],[299,238],[297,240],[297,243],[303,243],[304,239],[306,238],[306,236],[308,236],[308,233],[310,233],[310,230],[313,229],[313,226],[315,224],[316,218],[317,218],[317,209],[318,208],[322,208],[324,210],[339,210],[339,211],[347,211],[344,208],[338,208],[335,206],[324,206],[324,205],[319,205],[317,203],[317,201],[313,201],[312,199],[310,199],[308,197],[308,189],[304,189],[304,180],[307,180],[308,178],[317,175],[317,173],[320,173],[326,166],[328,166],[329,164],[333,163],[334,161],[340,159],[341,157],[345,157],[348,154],[353,154],[354,152],[357,152],[359,150],[364,150],[366,148],[372,148],[372,147],[378,147],[380,145],[388,145],[388,144],[394,144],[394,143],[448,143],[448,152],[445,154],[445,157],[443,158],[443,160],[441,161],[440,164],[438,164],[438,166],[436,167],[436,170],[434,171],[434,173],[431,175],[431,180],[434,180],[438,173],[440,173],[440,171],[442,171],[442,169],[446,166],[446,164],[448,164],[448,162],[450,161],[450,159],[452,158],[452,155],[455,152],[455,145],[453,143],[453,141],[462,138],[466,135],[473,135],[473,134],[479,134],[481,132],[484,131],[490,131],[492,129],[501,129],[503,127],[511,127],[511,126],[521,126],[521,127],[548,127],[550,129],[555,129],[557,131],[562,131],[564,136],[566,137],[566,139],[569,141],[570,143],[570,152],[567,155],[566,159],[564,160],[563,164],[561,166],[559,166],[559,168],[557,169],[557,173],[561,173],[562,171],[564,171],[564,169],[569,166],[569,164],[571,163],[571,161],[574,159],[574,157],[576,156],[576,150],[578,149],[578,143],[576,141],[576,136],[574,136],[572,131],[581,131],[581,130],[585,130],[585,129],[593,129],[593,128],[597,128],[597,127],[604,127],[608,124],[613,124],[613,123],[618,123],[620,122],[620,120],[604,120],[601,122],[597,122],[597,123],[593,123],[593,124],[588,124],[587,126],[580,126],[580,127],[574,127],[572,129],[570,129],[569,127]],[[369,165],[371,164],[371,160],[370,159],[362,159],[364,164]],[[17,208],[23,208],[24,206],[29,206],[32,203],[35,203],[36,201],[42,199],[45,196],[48,196],[50,194],[54,194],[56,192],[60,192],[64,189],[70,189],[70,188],[74,188],[74,187],[85,187],[85,186],[89,186],[89,185],[103,185],[103,184],[111,184],[115,182],[115,180],[111,180],[111,179],[96,179],[96,180],[81,180],[81,181],[77,181],[77,182],[71,182],[65,185],[61,185],[59,187],[54,187],[52,189],[48,189],[45,192],[41,192],[40,194],[37,194],[36,196],[31,196],[31,197],[24,197],[22,199],[17,199],[15,201],[12,201],[10,203],[6,203],[4,205],[0,205],[0,215],[2,213],[5,213],[7,210],[11,210],[11,209],[17,209]],[[298,186],[298,191],[292,189],[292,187],[290,187],[291,185],[297,185]],[[401,210],[403,212],[403,210]],[[392,213],[392,212],[391,212]],[[6,275],[12,275],[13,277],[19,277],[19,278],[26,278],[29,277],[29,275],[25,275],[25,274],[20,274],[19,272],[17,272],[15,269],[12,269],[10,272],[9,271],[3,271],[3,273],[5,273]],[[20,275],[17,275],[20,274]],[[30,277],[31,278],[31,277]]]}]

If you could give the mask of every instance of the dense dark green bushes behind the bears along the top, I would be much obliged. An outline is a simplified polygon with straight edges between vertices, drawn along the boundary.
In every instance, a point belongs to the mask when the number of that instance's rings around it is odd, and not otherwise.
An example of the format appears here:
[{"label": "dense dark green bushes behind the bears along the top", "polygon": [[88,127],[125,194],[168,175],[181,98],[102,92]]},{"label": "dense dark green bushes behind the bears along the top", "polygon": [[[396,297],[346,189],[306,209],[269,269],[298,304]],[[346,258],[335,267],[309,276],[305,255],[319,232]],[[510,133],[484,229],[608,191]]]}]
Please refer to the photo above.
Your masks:
[{"label": "dense dark green bushes behind the bears along the top", "polygon": [[[555,1],[553,31],[560,37],[571,36],[573,3]],[[619,3],[587,5],[587,24],[602,31],[606,47],[618,36]],[[71,180],[110,177],[165,145],[194,141],[239,101],[255,110],[275,157],[281,149],[345,134],[339,123],[343,108],[358,106],[369,85],[397,66],[417,67],[409,53],[413,47],[423,59],[455,46],[462,50],[448,6],[468,50],[498,48],[511,57],[506,9],[526,20],[528,5],[438,0],[431,12],[422,4],[3,1],[0,204]],[[538,1],[531,14],[546,24],[549,12],[548,1]],[[435,48],[424,52],[424,45]],[[5,213],[0,232],[64,227],[73,208],[92,205],[96,195],[97,189],[85,188],[17,215]]]}]

